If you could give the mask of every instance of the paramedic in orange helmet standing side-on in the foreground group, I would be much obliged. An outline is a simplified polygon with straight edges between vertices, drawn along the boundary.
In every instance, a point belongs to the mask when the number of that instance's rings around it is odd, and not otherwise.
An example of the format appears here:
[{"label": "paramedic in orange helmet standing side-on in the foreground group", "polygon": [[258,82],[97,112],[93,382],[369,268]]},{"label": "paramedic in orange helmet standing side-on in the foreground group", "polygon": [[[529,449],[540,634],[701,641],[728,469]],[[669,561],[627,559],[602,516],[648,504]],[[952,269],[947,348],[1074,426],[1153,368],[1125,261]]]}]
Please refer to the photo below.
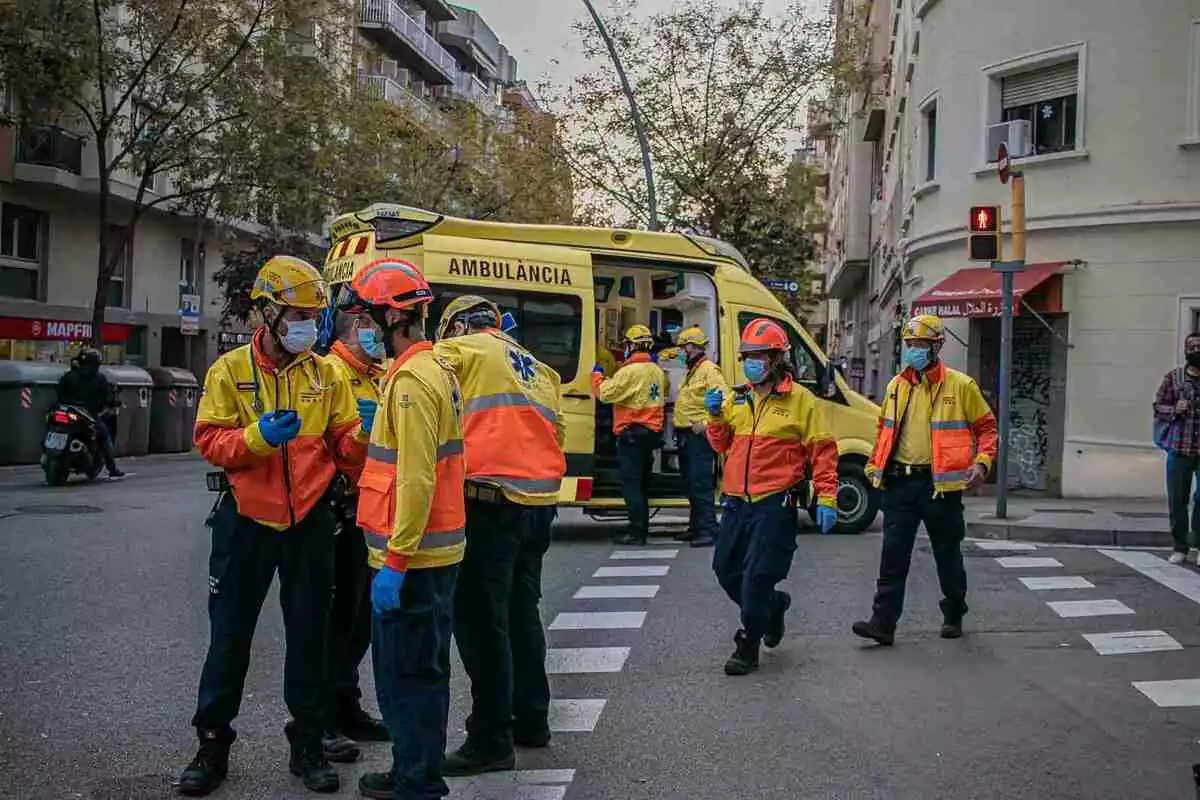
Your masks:
[{"label": "paramedic in orange helmet standing side-on in the foreground group", "polygon": [[458,381],[425,339],[433,293],[413,264],[371,261],[350,288],[343,311],[365,313],[394,359],[359,479],[358,517],[378,570],[371,650],[392,765],[364,775],[359,790],[444,798],[450,632],[466,542]]}]

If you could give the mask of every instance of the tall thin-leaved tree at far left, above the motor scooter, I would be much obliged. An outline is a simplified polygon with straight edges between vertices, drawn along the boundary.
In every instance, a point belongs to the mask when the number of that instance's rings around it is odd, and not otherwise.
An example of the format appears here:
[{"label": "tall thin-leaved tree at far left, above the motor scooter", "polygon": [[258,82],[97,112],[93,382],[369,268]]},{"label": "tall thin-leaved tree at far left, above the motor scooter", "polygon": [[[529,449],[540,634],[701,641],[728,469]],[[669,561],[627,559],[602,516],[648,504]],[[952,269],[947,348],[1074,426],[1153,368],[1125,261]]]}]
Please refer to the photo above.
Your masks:
[{"label": "tall thin-leaved tree at far left, above the motor scooter", "polygon": [[[319,108],[288,96],[305,95],[302,80],[287,80],[289,59],[304,55],[313,20],[338,7],[336,0],[12,0],[0,11],[0,62],[20,124],[74,130],[96,154],[94,339],[114,271],[148,212],[203,219],[240,213],[247,198],[277,205],[307,196],[270,180],[305,174],[298,164],[307,167],[320,150],[316,134],[298,136],[296,120],[305,110],[314,119]],[[312,72],[320,64],[311,59],[305,79],[319,80]],[[331,70],[338,64],[328,59]],[[274,119],[292,127],[264,130]],[[271,190],[254,194],[263,186]]]}]

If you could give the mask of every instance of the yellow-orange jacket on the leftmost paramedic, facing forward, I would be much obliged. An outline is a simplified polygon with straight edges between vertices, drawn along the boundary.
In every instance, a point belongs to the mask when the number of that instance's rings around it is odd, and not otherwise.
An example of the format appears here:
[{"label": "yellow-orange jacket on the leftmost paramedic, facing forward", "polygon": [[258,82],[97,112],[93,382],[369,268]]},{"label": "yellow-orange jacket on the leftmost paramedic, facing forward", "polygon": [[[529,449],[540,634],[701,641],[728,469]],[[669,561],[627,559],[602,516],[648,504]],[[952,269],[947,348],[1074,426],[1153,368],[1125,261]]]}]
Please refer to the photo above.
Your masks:
[{"label": "yellow-orange jacket on the leftmost paramedic, facing forward", "polygon": [[[263,353],[265,329],[217,359],[204,378],[193,438],[226,471],[238,512],[277,530],[312,511],[337,469],[361,468],[366,435],[350,385],[328,360],[308,353],[282,369]],[[258,429],[266,411],[294,409],[300,434],[272,447]]]}]

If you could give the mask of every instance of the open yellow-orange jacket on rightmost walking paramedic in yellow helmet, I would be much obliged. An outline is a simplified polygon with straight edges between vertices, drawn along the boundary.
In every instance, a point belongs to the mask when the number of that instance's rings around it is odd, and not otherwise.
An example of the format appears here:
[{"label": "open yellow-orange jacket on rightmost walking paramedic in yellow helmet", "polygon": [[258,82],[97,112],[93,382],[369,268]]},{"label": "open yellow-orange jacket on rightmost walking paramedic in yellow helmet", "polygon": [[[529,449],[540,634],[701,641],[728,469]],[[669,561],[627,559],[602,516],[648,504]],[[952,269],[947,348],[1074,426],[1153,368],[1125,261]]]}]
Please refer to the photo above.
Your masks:
[{"label": "open yellow-orange jacket on rightmost walking paramedic in yellow helmet", "polygon": [[[932,392],[929,434],[934,450],[934,489],[960,492],[967,486],[972,464],[991,469],[1000,446],[996,417],[970,375],[938,361],[925,371],[924,379]],[[866,464],[866,474],[875,486],[883,482],[884,468],[896,445],[898,420],[904,420],[913,386],[920,380],[922,375],[910,367],[888,384],[880,409],[875,450]]]}]

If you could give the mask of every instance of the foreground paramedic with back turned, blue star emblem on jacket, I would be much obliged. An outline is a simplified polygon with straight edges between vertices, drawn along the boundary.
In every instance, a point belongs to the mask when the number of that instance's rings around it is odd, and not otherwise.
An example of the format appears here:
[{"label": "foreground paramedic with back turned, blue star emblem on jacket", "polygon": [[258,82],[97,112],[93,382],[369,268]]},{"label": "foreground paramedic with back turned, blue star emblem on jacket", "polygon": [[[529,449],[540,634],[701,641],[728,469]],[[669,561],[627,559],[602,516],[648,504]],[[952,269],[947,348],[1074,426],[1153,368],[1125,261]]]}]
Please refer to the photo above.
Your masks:
[{"label": "foreground paramedic with back turned, blue star emblem on jacket", "polygon": [[462,387],[467,451],[467,555],[454,634],[472,706],[467,741],[446,756],[448,776],[512,769],[514,745],[550,742],[538,603],[566,471],[562,379],[499,325],[496,303],[463,295],[442,313],[434,348]]}]

